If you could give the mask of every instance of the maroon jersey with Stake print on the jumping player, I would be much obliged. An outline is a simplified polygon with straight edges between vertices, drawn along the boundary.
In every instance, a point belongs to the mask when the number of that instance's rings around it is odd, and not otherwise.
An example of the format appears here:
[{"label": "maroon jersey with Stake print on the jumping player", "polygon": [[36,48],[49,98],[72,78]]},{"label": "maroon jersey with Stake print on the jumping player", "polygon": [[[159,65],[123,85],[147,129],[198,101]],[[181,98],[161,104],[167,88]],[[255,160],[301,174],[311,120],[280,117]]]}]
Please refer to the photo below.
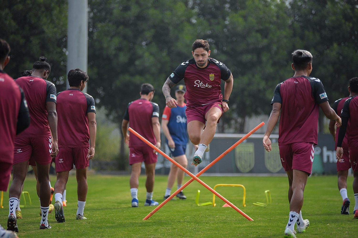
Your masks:
[{"label": "maroon jersey with Stake print on the jumping player", "polygon": [[221,79],[228,80],[231,71],[222,63],[213,58],[208,59],[205,68],[199,68],[194,59],[180,64],[169,76],[173,83],[184,79],[187,91],[184,98],[187,107],[205,105],[222,100]]}]

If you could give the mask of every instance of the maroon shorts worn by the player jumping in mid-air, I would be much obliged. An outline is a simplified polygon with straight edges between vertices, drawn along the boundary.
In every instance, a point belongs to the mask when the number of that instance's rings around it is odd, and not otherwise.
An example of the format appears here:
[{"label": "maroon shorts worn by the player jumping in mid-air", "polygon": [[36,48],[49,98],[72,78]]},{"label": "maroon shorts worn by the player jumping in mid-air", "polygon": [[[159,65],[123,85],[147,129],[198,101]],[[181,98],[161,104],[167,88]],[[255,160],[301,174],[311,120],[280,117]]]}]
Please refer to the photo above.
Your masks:
[{"label": "maroon shorts worn by the player jumping in mid-air", "polygon": [[[212,107],[219,108],[221,110],[221,115],[222,115],[223,106],[221,100],[203,106],[187,107],[187,109],[185,110],[185,115],[187,115],[187,123],[189,123],[190,121],[200,121],[205,124],[206,122],[205,115]],[[218,123],[219,121],[220,118],[218,120]]]}]

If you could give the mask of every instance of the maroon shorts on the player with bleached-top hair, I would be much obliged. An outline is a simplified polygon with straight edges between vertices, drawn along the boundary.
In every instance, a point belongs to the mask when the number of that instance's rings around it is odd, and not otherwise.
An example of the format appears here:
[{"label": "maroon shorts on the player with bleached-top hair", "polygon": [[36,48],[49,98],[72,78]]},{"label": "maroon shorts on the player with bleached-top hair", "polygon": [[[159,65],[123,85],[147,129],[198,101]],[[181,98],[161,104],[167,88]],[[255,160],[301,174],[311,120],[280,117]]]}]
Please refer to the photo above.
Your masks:
[{"label": "maroon shorts on the player with bleached-top hair", "polygon": [[314,157],[313,143],[296,142],[279,146],[281,164],[285,171],[301,170],[311,174]]}]

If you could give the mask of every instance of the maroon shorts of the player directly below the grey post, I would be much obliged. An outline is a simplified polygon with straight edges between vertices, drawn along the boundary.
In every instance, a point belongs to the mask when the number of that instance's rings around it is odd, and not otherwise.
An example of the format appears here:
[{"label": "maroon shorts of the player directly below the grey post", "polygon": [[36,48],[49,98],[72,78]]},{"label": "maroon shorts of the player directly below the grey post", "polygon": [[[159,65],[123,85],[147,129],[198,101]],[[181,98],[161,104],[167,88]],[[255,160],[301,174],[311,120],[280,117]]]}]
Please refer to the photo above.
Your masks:
[{"label": "maroon shorts of the player directly below the grey post", "polygon": [[55,159],[56,172],[70,171],[73,164],[76,168],[86,168],[89,165],[87,158],[89,147],[82,148],[58,148],[58,154]]}]

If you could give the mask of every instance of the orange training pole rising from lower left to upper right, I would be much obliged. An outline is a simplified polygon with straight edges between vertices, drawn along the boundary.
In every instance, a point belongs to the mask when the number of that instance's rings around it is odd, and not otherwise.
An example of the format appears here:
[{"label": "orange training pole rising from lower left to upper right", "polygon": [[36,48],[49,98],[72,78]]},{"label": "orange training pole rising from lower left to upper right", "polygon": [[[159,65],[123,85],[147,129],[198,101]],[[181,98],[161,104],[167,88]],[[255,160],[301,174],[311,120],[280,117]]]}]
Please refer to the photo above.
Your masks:
[{"label": "orange training pole rising from lower left to upper right", "polygon": [[[237,141],[234,145],[232,145],[230,148],[228,148],[224,153],[222,153],[219,157],[214,159],[210,164],[208,164],[205,168],[202,169],[199,173],[197,173],[197,177],[199,177],[201,174],[203,174],[205,171],[207,171],[210,167],[214,165],[214,163],[218,162],[222,157],[227,155],[230,151],[233,150],[236,146],[238,146],[241,142],[245,141],[249,136],[251,136],[255,131],[257,131],[260,127],[265,125],[264,122],[261,122],[258,126],[253,128],[249,133],[247,133],[244,137],[242,137],[239,141]],[[173,197],[175,197],[176,194],[178,194],[180,191],[182,191],[185,187],[187,187],[191,182],[194,181],[194,178],[191,178],[188,182],[186,182],[182,187],[180,187],[178,190],[176,190],[171,196],[162,203],[159,204],[158,207],[156,207],[153,211],[151,211],[143,220],[147,220],[149,217],[151,217],[156,211],[158,211],[161,207],[163,207],[167,202],[169,202]]]}]

